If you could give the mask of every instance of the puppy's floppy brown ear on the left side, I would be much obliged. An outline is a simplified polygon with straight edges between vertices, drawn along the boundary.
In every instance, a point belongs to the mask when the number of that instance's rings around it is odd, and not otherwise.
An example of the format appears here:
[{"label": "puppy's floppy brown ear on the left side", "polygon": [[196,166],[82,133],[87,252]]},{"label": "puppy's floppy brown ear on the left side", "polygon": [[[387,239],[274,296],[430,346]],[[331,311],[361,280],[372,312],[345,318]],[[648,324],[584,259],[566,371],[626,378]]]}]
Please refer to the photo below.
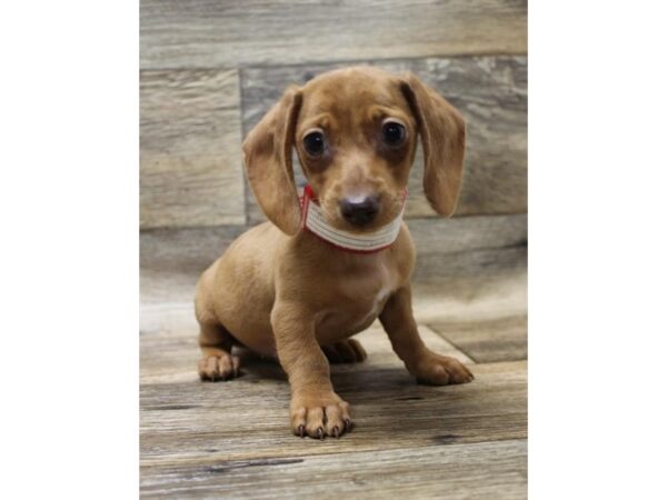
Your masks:
[{"label": "puppy's floppy brown ear on the left side", "polygon": [[291,162],[300,107],[301,93],[292,86],[255,126],[242,146],[252,192],[269,220],[287,234],[296,234],[301,226],[301,207]]}]

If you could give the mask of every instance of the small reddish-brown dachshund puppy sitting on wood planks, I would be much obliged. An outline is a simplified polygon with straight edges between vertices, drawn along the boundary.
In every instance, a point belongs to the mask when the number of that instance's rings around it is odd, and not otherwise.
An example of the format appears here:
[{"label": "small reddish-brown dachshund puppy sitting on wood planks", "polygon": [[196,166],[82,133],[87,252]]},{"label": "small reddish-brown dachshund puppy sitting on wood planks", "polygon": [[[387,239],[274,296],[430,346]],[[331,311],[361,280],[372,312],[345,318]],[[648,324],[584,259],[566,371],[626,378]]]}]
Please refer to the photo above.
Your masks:
[{"label": "small reddish-brown dachshund puppy sitting on wood planks", "polygon": [[[402,222],[417,137],[428,201],[449,217],[464,164],[465,122],[415,76],[371,67],[288,88],[243,142],[248,179],[270,220],[240,236],[200,278],[196,313],[202,380],[239,372],[232,344],[277,357],[300,437],[340,437],[352,426],[329,362],[361,361],[350,337],[380,319],[418,381],[465,383],[472,374],[430,351],[412,317],[415,248]],[[300,200],[296,148],[308,187]]]}]

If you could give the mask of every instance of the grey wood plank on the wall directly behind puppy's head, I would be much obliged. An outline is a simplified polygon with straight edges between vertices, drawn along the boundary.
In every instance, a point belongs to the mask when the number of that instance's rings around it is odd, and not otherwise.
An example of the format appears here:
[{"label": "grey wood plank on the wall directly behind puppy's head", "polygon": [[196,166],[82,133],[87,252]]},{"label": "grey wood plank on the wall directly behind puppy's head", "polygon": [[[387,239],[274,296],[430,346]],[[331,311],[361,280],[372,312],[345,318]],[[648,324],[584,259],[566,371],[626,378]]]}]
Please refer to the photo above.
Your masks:
[{"label": "grey wood plank on the wall directly behind puppy's head", "polygon": [[[369,61],[394,73],[411,71],[456,106],[468,122],[464,188],[456,214],[527,211],[527,59],[459,57]],[[243,132],[280,98],[285,88],[346,64],[247,68],[241,71]],[[293,157],[298,166],[298,158]],[[297,183],[306,180],[297,167]],[[410,174],[407,218],[437,217],[422,188],[424,157],[418,149]],[[251,222],[266,220],[251,193]]]}]

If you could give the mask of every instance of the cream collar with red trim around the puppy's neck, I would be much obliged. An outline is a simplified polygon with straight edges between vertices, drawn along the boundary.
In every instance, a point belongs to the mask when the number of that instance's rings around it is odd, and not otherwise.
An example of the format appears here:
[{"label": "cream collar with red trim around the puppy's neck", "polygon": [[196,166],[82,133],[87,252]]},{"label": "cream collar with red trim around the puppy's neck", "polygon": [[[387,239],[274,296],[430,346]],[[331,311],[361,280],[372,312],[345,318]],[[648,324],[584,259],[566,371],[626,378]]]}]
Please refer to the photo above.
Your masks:
[{"label": "cream collar with red trim around the puppy's neck", "polygon": [[406,196],[400,213],[396,219],[381,228],[365,232],[354,233],[342,229],[334,228],[325,219],[325,214],[310,186],[303,188],[301,197],[301,228],[311,232],[320,240],[332,247],[350,253],[375,253],[385,250],[396,241],[402,223],[402,214],[406,208]]}]

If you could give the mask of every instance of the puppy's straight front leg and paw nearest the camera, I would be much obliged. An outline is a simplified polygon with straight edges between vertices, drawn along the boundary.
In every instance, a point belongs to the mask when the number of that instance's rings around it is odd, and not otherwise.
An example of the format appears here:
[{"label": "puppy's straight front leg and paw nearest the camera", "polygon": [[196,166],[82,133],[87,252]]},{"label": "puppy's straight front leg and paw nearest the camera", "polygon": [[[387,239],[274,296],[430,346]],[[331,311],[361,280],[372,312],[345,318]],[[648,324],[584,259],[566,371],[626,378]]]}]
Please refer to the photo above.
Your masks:
[{"label": "puppy's straight front leg and paw nearest the camera", "polygon": [[315,336],[312,312],[293,302],[277,302],[271,327],[291,389],[290,421],[295,434],[325,439],[351,429],[349,404],[334,392],[329,362]]}]

